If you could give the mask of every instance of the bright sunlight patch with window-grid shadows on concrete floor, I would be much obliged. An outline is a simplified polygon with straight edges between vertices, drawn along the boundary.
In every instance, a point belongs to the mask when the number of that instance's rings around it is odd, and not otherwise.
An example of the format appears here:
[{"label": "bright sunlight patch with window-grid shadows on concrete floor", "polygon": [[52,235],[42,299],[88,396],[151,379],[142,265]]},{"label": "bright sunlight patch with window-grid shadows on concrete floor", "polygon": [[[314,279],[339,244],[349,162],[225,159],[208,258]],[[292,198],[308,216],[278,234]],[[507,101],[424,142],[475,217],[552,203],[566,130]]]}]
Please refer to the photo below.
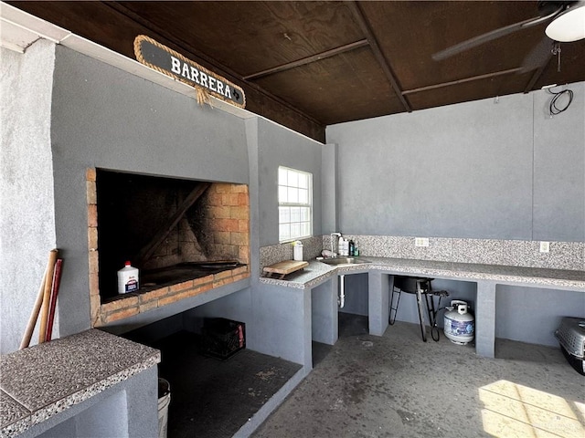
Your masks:
[{"label": "bright sunlight patch with window-grid shadows on concrete floor", "polygon": [[484,431],[496,437],[585,437],[585,404],[512,381],[479,389]]}]

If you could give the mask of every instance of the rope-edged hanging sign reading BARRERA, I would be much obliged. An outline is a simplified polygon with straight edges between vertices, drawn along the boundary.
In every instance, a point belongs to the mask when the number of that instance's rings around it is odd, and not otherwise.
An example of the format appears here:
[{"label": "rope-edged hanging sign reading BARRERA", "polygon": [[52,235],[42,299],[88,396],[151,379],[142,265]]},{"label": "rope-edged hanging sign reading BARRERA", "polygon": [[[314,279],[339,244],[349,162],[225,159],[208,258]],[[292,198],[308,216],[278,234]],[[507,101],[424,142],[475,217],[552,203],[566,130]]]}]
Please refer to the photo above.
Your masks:
[{"label": "rope-edged hanging sign reading BARRERA", "polygon": [[134,54],[141,64],[197,89],[199,103],[207,101],[207,96],[211,94],[239,108],[246,107],[243,89],[149,36],[136,36]]}]

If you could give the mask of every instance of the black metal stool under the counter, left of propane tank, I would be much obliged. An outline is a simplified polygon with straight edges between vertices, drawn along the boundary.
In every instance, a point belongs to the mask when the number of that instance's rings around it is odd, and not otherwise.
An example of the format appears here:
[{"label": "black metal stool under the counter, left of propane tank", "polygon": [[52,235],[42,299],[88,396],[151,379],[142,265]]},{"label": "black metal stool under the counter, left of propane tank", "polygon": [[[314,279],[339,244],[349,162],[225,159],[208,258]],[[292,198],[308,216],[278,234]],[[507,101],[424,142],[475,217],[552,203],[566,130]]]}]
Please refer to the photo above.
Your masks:
[{"label": "black metal stool under the counter, left of propane tank", "polygon": [[[392,296],[390,298],[390,313],[388,324],[391,326],[396,322],[396,314],[399,310],[400,294],[414,294],[417,297],[417,307],[419,309],[420,334],[422,340],[427,341],[427,331],[424,327],[424,310],[422,297],[427,306],[427,315],[431,324],[431,337],[436,342],[439,340],[439,328],[437,327],[437,312],[441,309],[441,298],[449,297],[446,290],[432,290],[432,278],[418,276],[394,276],[394,287],[392,287]],[[396,297],[396,306],[394,306],[394,297]],[[435,308],[434,297],[439,297],[439,302]]]}]

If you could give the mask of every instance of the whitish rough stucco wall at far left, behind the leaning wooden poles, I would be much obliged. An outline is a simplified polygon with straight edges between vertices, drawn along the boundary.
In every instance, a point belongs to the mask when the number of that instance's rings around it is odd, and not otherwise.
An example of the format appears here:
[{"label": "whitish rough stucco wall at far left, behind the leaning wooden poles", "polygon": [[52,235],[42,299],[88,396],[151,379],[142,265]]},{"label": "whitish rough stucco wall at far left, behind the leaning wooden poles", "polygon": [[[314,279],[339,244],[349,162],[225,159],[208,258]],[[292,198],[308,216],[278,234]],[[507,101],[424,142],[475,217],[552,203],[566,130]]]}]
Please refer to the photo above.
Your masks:
[{"label": "whitish rough stucco wall at far left, behind the leaning wooden poles", "polygon": [[0,353],[5,354],[18,349],[48,252],[55,247],[50,148],[55,46],[39,40],[25,54],[0,48],[0,57]]}]

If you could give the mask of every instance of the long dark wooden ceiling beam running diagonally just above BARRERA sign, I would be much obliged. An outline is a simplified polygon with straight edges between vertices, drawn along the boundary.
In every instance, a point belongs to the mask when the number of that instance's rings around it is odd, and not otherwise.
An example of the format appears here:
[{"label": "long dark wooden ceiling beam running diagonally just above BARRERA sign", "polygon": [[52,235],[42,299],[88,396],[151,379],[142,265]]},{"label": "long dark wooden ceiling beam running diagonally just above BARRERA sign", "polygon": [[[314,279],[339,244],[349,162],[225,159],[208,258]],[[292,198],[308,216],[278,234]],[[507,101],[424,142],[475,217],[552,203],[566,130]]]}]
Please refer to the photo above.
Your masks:
[{"label": "long dark wooden ceiling beam running diagonally just above BARRERA sign", "polygon": [[256,85],[253,82],[245,80],[236,71],[232,70],[229,67],[222,65],[221,63],[219,63],[215,59],[208,57],[205,53],[200,52],[199,50],[197,50],[197,48],[193,47],[191,44],[184,41],[183,39],[177,38],[176,36],[173,36],[173,35],[170,35],[168,32],[165,31],[165,29],[163,29],[159,26],[155,26],[150,21],[144,19],[142,16],[135,14],[133,11],[131,11],[130,9],[128,9],[127,7],[125,7],[123,5],[120,5],[118,2],[101,2],[101,3],[103,5],[112,7],[112,9],[119,12],[123,16],[127,16],[128,18],[130,18],[134,22],[138,23],[140,26],[144,26],[144,28],[154,32],[158,36],[162,36],[167,41],[176,45],[176,47],[180,47],[183,50],[185,50],[187,53],[203,60],[204,62],[206,62],[208,64],[209,67],[216,69],[216,71],[219,74],[228,76],[232,80],[235,79],[236,81],[239,81],[239,82],[245,84],[247,87],[250,87],[250,89],[255,89],[256,91],[258,91],[262,95],[266,96],[269,99],[273,99],[273,100],[279,102],[282,106],[284,106],[285,108],[287,108],[289,110],[294,111],[295,113],[302,116],[306,120],[310,120],[311,122],[313,122],[317,125],[321,125],[321,126],[324,125],[323,121],[316,120],[313,116],[310,116],[309,114],[303,112],[302,110],[299,110],[298,108],[293,107],[293,105],[291,105],[286,100],[283,100],[283,99],[279,98],[278,96],[273,95],[271,92],[267,91],[266,89],[262,89],[260,86]]}]

